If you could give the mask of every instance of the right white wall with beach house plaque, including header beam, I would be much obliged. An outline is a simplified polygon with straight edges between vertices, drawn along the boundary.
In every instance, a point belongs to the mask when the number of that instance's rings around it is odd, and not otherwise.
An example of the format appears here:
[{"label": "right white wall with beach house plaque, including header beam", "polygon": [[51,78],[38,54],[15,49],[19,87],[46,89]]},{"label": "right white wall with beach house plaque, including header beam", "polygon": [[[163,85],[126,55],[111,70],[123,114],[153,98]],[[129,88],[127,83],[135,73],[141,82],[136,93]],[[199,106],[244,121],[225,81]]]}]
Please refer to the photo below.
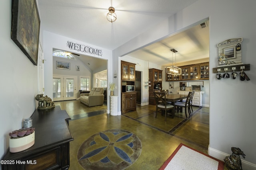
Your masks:
[{"label": "right white wall with beach house plaque, including header beam", "polygon": [[[155,42],[167,35],[185,29],[194,23],[210,18],[210,146],[211,155],[220,159],[231,154],[231,147],[239,147],[246,154],[243,169],[255,169],[256,96],[254,74],[256,58],[256,1],[255,0],[198,0],[168,20],[151,27],[113,51],[122,56],[134,49]],[[212,68],[218,65],[216,45],[230,38],[243,37],[242,62],[250,64],[246,71],[250,81],[239,78],[216,80]],[[249,162],[249,163],[248,163]]]}]

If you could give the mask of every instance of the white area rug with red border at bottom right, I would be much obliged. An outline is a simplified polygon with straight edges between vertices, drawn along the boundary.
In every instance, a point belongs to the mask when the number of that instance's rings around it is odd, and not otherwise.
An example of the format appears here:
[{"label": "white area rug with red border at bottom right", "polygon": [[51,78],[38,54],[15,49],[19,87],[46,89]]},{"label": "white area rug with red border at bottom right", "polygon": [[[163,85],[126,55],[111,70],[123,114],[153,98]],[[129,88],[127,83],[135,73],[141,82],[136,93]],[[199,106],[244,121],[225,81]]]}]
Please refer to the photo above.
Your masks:
[{"label": "white area rug with red border at bottom right", "polygon": [[159,170],[223,170],[224,162],[181,143]]}]

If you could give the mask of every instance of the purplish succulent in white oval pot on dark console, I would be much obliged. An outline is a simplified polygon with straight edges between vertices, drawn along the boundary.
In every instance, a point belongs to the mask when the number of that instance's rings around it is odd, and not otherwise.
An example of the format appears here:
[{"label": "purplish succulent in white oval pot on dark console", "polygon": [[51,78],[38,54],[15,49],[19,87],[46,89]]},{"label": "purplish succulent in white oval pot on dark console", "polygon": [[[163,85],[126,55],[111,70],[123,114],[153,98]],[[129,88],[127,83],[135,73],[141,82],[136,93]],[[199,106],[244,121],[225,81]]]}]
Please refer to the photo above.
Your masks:
[{"label": "purplish succulent in white oval pot on dark console", "polygon": [[32,147],[35,143],[35,128],[28,127],[9,133],[10,152],[20,152]]}]

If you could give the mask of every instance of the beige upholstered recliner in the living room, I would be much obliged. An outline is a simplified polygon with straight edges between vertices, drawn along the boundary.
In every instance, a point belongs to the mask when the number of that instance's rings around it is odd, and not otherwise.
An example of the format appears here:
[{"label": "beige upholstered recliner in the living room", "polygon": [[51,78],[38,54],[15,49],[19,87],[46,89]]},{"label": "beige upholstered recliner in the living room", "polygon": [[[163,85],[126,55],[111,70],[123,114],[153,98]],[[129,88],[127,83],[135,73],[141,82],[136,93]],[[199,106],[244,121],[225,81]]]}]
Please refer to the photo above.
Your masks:
[{"label": "beige upholstered recliner in the living room", "polygon": [[80,94],[80,102],[86,106],[100,106],[104,102],[104,88],[92,88],[90,93]]}]

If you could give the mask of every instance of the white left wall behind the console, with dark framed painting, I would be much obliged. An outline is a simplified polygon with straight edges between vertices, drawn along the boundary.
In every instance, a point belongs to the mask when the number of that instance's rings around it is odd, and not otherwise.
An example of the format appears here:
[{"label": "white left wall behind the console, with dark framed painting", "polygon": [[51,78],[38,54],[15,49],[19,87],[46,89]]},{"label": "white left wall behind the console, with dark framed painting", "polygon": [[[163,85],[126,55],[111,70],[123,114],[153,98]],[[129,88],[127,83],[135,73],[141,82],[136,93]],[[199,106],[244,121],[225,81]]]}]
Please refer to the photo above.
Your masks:
[{"label": "white left wall behind the console, with dark framed painting", "polygon": [[[0,156],[9,147],[8,134],[22,128],[22,119],[30,117],[36,109],[37,66],[12,41],[12,1],[0,2]],[[1,168],[0,168],[1,169]]]}]

